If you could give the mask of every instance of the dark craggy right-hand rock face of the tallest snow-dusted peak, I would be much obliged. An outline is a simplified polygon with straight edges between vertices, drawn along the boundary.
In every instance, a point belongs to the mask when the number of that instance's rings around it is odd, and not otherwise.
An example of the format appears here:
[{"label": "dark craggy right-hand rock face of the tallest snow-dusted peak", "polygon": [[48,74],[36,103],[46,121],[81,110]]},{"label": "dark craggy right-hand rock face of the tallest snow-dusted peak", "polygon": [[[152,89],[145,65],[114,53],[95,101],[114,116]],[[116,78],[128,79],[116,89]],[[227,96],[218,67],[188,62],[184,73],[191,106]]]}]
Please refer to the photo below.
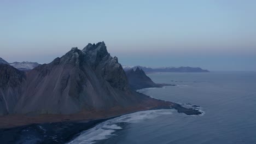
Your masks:
[{"label": "dark craggy right-hand rock face of the tallest snow-dusted peak", "polygon": [[88,44],[82,50],[85,61],[88,62],[90,67],[97,75],[103,77],[110,85],[121,91],[126,91],[128,81],[125,72],[118,58],[112,58],[107,52],[104,42],[98,44]]}]

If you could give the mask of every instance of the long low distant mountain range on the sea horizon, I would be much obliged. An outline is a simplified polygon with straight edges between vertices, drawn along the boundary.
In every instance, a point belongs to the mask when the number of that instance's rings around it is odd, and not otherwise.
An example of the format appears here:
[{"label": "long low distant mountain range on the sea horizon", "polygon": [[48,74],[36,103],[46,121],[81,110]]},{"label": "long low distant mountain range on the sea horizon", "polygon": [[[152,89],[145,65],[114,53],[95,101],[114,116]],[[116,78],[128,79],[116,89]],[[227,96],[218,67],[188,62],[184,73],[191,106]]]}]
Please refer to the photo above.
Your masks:
[{"label": "long low distant mountain range on the sea horizon", "polygon": [[156,73],[156,72],[178,72],[178,73],[199,73],[199,72],[210,72],[208,70],[204,70],[201,68],[193,68],[193,67],[160,67],[160,68],[150,68],[150,67],[142,67],[142,66],[127,66],[124,65],[123,69],[125,71],[136,68],[142,69],[145,73]]}]

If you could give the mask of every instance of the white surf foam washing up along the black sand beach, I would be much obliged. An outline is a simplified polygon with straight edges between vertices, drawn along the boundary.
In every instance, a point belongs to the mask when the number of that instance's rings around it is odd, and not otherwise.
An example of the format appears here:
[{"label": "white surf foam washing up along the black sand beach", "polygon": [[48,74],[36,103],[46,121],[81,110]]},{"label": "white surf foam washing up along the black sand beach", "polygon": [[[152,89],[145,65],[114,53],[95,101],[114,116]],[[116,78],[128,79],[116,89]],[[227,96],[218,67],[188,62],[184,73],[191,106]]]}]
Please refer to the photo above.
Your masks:
[{"label": "white surf foam washing up along the black sand beach", "polygon": [[147,119],[159,117],[161,115],[171,115],[173,111],[173,109],[139,111],[109,119],[106,122],[96,125],[94,128],[83,131],[78,137],[69,143],[95,143],[96,140],[108,139],[114,135],[113,133],[115,131],[123,129],[119,123],[138,123],[141,121],[146,121]]}]

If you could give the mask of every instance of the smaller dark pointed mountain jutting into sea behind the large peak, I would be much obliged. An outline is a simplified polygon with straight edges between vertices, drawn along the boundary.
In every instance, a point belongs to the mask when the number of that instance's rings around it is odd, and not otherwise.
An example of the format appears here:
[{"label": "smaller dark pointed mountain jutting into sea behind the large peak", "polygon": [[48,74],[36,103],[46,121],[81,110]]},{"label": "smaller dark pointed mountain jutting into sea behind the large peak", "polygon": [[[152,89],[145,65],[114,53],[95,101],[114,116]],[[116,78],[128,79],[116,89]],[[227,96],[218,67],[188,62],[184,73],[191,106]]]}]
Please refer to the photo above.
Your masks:
[{"label": "smaller dark pointed mountain jutting into sea behind the large peak", "polygon": [[170,86],[167,84],[158,84],[154,83],[145,73],[142,69],[136,68],[126,70],[125,71],[126,76],[129,81],[129,85],[131,88],[137,90],[142,88],[149,88],[149,87],[162,87],[162,86]]}]

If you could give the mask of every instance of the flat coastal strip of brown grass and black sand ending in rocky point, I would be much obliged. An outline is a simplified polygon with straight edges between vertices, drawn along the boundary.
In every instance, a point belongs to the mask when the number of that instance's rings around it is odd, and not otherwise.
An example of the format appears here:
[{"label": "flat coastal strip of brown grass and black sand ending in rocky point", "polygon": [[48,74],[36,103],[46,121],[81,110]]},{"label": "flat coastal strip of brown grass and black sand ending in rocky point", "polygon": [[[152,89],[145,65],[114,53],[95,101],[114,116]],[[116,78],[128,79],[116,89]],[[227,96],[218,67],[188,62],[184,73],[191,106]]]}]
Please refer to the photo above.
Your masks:
[{"label": "flat coastal strip of brown grass and black sand ending in rocky point", "polygon": [[82,131],[93,128],[108,119],[138,111],[176,109],[178,113],[186,115],[201,114],[198,110],[154,98],[142,105],[122,111],[113,109],[73,115],[9,115],[0,117],[0,141],[1,143],[66,143],[79,136]]}]

